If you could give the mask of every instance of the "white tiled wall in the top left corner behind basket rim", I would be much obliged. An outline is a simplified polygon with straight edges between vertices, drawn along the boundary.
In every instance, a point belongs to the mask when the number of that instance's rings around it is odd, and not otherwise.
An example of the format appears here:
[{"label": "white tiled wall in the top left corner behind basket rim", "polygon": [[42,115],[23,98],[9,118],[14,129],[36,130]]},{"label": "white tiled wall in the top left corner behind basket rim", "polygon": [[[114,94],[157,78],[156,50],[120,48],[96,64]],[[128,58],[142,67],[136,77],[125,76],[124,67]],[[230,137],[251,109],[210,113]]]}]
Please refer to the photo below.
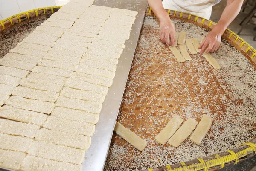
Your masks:
[{"label": "white tiled wall in the top left corner behind basket rim", "polygon": [[62,6],[70,0],[0,0],[0,20],[31,9]]}]

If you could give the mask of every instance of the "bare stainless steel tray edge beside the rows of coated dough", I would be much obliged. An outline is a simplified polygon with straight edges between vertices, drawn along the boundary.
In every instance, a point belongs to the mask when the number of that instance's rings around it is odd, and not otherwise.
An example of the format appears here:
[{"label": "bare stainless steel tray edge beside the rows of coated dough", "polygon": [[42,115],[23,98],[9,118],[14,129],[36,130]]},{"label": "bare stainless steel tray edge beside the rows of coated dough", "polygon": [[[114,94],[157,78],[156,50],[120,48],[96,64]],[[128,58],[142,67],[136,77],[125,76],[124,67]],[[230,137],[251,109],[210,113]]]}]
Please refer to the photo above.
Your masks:
[{"label": "bare stainless steel tray edge beside the rows of coated dough", "polygon": [[125,49],[119,59],[113,85],[110,87],[103,103],[99,123],[96,125],[96,131],[92,136],[92,144],[85,153],[82,171],[102,171],[104,168],[126,81],[143,24],[147,1],[98,0],[93,5],[130,9],[137,11],[139,14],[132,27],[130,39],[126,41]]}]

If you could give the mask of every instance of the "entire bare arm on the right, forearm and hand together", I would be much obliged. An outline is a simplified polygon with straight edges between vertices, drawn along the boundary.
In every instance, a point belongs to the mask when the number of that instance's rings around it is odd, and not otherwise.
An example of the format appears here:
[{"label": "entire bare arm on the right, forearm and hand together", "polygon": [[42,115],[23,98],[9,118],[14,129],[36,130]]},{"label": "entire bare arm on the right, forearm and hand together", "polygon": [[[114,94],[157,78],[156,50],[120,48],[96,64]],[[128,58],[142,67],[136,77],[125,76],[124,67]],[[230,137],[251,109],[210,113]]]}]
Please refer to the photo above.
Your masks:
[{"label": "entire bare arm on the right, forearm and hand together", "polygon": [[241,10],[243,0],[227,0],[227,6],[225,7],[221,18],[216,24],[216,26],[209,32],[205,37],[204,41],[201,43],[199,49],[201,49],[200,54],[204,51],[215,52],[218,50],[221,44],[221,35],[227,29],[227,26],[236,18]]}]

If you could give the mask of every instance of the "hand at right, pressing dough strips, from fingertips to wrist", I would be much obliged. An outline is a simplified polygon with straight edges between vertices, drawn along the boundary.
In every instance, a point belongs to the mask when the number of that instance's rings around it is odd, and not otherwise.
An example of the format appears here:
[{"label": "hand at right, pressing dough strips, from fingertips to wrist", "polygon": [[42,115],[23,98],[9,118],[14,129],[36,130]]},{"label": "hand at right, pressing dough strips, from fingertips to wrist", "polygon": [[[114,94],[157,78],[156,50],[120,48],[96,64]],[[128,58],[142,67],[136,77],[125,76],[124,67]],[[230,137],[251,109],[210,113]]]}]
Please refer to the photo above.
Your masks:
[{"label": "hand at right, pressing dough strips, from fingertips to wrist", "polygon": [[199,52],[200,55],[202,55],[204,51],[209,53],[218,50],[221,44],[221,35],[222,33],[215,31],[214,29],[210,31],[209,34],[204,38],[204,41],[199,46],[199,49],[201,49]]}]

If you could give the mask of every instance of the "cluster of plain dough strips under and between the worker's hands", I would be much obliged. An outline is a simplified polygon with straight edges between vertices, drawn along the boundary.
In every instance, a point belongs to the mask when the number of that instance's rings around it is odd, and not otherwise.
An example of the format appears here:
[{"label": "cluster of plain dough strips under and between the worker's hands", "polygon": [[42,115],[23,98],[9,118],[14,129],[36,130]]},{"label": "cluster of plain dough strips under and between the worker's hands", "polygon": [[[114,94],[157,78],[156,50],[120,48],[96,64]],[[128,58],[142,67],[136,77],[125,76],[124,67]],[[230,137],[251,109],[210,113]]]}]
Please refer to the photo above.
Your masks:
[{"label": "cluster of plain dough strips under and between the worker's hands", "polygon": [[[186,32],[181,31],[179,34],[177,32],[175,32],[175,39],[177,41],[175,41],[175,45],[174,47],[169,47],[169,49],[172,51],[173,55],[175,56],[175,58],[177,59],[178,62],[184,62],[186,60],[191,61],[192,58],[190,57],[187,48],[189,49],[189,52],[192,55],[198,54],[200,52],[199,46],[200,43],[196,38],[186,38]],[[186,42],[186,46],[185,46],[185,42]],[[179,50],[176,48],[179,45]],[[204,52],[202,54],[204,56],[204,58],[206,58],[206,60],[209,62],[210,65],[212,65],[212,67],[214,67],[216,70],[220,69],[221,66],[218,64],[218,62],[215,60],[215,58],[212,57],[211,54]]]}]

